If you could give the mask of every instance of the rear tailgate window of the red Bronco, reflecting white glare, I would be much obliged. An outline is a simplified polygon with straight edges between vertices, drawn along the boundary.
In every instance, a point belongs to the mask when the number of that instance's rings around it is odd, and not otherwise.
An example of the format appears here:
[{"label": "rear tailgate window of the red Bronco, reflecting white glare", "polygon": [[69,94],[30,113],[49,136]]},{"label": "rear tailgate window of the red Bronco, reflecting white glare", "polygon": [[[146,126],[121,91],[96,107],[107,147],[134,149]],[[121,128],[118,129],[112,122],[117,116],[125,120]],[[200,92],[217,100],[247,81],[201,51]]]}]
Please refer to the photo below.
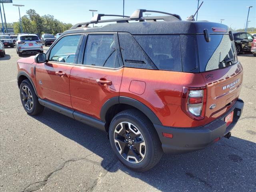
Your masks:
[{"label": "rear tailgate window of the red Bronco, reflecting white glare", "polygon": [[230,66],[237,62],[234,42],[228,35],[210,35],[206,42],[204,35],[197,35],[200,72]]}]

